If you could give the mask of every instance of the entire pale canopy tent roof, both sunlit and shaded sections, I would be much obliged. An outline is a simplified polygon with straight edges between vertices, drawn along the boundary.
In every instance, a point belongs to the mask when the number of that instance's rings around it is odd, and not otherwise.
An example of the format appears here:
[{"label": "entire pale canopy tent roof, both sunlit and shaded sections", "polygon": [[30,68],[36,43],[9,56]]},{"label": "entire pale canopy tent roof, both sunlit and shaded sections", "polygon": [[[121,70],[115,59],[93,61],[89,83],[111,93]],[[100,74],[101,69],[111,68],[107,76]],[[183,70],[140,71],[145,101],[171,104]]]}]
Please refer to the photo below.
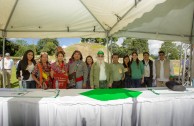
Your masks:
[{"label": "entire pale canopy tent roof, both sunlit and shaded sections", "polygon": [[0,0],[0,37],[189,42],[193,8],[193,0]]}]

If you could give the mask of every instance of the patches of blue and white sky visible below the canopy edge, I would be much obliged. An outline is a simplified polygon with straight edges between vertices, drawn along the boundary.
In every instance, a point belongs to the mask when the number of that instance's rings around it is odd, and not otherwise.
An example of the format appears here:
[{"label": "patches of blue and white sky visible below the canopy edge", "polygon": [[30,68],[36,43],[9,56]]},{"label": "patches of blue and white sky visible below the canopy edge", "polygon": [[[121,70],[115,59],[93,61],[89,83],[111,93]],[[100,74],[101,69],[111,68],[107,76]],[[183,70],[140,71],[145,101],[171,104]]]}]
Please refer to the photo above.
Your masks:
[{"label": "patches of blue and white sky visible below the canopy edge", "polygon": [[[21,39],[27,41],[28,44],[37,44],[39,40],[38,38],[9,38],[11,41]],[[57,38],[57,40],[59,41],[59,45],[65,48],[67,46],[80,43],[81,38]],[[123,38],[119,38],[117,44],[121,45],[122,43]],[[157,55],[162,43],[163,41],[159,40],[148,40],[150,54]]]}]

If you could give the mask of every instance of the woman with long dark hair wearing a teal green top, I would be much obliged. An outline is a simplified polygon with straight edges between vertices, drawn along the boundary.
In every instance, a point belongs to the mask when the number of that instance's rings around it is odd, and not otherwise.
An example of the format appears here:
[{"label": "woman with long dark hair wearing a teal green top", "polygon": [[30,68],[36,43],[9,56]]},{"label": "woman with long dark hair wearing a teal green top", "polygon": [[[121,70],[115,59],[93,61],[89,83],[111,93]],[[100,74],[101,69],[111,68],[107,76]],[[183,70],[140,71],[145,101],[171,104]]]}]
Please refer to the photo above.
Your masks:
[{"label": "woman with long dark hair wearing a teal green top", "polygon": [[142,61],[138,59],[137,52],[132,53],[131,59],[131,80],[132,87],[139,88],[143,83],[144,65]]}]

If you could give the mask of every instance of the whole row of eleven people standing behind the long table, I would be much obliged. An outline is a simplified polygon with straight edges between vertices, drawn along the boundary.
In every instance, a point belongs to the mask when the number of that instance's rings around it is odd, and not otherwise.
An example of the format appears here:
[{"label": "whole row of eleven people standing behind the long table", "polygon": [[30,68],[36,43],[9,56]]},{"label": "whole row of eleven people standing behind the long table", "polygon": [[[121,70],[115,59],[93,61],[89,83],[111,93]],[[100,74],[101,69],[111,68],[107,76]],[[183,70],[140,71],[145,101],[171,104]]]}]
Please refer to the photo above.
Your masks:
[{"label": "whole row of eleven people standing behind the long table", "polygon": [[82,53],[75,50],[66,63],[61,47],[56,49],[55,56],[56,61],[51,64],[48,54],[43,52],[36,62],[34,52],[27,50],[17,65],[17,79],[27,88],[139,88],[152,87],[154,81],[158,87],[165,86],[174,74],[163,51],[159,52],[155,62],[150,60],[148,52],[143,53],[142,61],[137,52],[133,52],[131,58],[128,55],[123,57],[122,64],[118,54],[112,55],[112,63],[105,62],[103,51],[97,52],[96,62],[92,56],[87,56],[84,62]]}]

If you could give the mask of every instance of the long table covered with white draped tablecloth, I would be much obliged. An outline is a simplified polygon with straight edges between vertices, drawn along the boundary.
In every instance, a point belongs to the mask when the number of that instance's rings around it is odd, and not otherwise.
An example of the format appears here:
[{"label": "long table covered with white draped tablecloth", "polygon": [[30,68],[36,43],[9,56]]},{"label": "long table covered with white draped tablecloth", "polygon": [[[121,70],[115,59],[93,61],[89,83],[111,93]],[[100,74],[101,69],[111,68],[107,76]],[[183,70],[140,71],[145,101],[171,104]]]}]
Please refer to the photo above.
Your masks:
[{"label": "long table covered with white draped tablecloth", "polygon": [[[89,89],[88,89],[89,90]],[[137,98],[100,101],[86,89],[0,90],[1,126],[193,126],[194,88],[129,89]],[[19,95],[19,96],[18,96]]]}]

